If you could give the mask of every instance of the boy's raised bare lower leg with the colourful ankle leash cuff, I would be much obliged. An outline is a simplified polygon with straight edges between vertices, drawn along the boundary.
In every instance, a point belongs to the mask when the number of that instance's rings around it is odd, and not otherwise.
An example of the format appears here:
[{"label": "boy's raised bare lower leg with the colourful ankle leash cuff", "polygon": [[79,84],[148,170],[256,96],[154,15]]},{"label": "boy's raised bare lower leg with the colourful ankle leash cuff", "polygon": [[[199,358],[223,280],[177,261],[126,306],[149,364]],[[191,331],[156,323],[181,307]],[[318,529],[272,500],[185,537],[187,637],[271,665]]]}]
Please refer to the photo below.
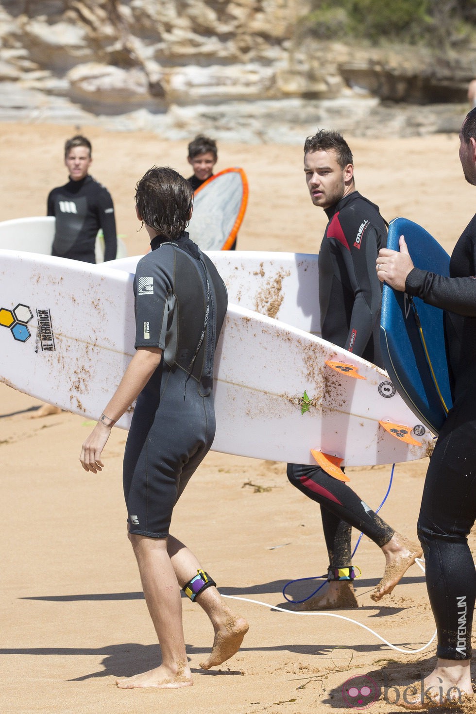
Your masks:
[{"label": "boy's raised bare lower leg with the colourful ankle leash cuff", "polygon": [[[188,580],[196,575],[201,565],[191,550],[172,535],[168,537],[167,548],[178,583],[183,587],[188,583]],[[196,602],[210,618],[215,632],[211,654],[206,662],[200,664],[201,668],[210,669],[236,655],[243,642],[243,637],[248,632],[249,625],[244,618],[235,615],[223,603],[223,598],[213,585],[203,590],[197,596]]]}]

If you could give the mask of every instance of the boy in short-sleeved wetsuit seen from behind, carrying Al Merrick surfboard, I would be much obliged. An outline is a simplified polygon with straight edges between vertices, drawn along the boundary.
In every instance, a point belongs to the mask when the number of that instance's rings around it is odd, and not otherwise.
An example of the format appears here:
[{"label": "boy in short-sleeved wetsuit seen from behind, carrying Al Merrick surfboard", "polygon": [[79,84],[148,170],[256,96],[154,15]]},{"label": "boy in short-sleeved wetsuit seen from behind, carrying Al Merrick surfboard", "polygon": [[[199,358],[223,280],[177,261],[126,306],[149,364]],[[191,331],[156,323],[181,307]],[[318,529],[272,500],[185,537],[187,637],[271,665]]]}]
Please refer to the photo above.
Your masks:
[{"label": "boy in short-sleeved wetsuit seen from behind, carrying Al Merrick surfboard", "polygon": [[[135,399],[123,462],[128,537],[161,645],[161,665],[117,680],[119,688],[191,685],[181,592],[201,605],[215,631],[204,669],[239,649],[248,623],[223,603],[195,555],[169,534],[173,507],[215,436],[213,356],[227,308],[211,260],[188,238],[193,191],[173,169],[150,169],[136,211],[151,239],[134,279],[136,353],[116,393],[83,444],[86,471],[103,468],[111,427]],[[204,523],[206,523],[206,517]]]}]

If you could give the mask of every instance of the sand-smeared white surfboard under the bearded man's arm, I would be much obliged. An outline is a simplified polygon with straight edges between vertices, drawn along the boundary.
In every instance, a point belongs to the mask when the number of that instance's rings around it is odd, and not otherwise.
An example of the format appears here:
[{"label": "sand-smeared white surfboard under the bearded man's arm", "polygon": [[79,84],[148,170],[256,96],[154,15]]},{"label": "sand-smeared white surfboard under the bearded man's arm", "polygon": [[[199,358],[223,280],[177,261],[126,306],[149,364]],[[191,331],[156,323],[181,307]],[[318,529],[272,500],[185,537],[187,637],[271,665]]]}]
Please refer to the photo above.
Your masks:
[{"label": "sand-smeared white surfboard under the bearded man's arm", "polygon": [[[315,253],[205,251],[231,303],[320,335],[319,264]],[[103,263],[136,272],[142,256]]]}]

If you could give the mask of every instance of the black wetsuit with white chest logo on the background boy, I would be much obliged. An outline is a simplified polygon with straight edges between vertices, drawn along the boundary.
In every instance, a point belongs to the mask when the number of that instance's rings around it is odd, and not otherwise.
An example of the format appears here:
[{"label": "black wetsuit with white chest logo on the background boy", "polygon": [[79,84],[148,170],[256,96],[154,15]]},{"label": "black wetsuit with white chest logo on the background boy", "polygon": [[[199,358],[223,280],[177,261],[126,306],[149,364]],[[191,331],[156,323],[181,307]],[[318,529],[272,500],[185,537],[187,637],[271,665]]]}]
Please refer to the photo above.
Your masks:
[{"label": "black wetsuit with white chest logo on the background boy", "polygon": [[56,218],[51,255],[96,263],[96,236],[102,228],[104,260],[116,258],[116,219],[111,194],[92,176],[70,180],[50,191],[47,214]]}]

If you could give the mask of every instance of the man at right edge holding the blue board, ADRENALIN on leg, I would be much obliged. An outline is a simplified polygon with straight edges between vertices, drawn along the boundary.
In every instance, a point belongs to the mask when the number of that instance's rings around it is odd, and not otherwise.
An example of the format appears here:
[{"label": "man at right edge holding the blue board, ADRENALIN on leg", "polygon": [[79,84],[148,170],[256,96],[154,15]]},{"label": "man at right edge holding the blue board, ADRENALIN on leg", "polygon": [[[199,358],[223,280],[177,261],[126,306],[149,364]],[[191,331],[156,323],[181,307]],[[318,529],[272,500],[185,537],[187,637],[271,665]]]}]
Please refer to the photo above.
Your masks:
[{"label": "man at right edge holding the blue board, ADRENALIN on leg", "polygon": [[[466,180],[476,186],[476,109],[462,124],[460,161]],[[426,710],[472,698],[476,572],[467,536],[476,520],[476,216],[452,252],[450,277],[414,268],[404,236],[400,252],[381,250],[376,267],[381,281],[445,311],[453,406],[430,458],[418,518],[438,633],[437,663],[415,698],[397,702]]]}]

